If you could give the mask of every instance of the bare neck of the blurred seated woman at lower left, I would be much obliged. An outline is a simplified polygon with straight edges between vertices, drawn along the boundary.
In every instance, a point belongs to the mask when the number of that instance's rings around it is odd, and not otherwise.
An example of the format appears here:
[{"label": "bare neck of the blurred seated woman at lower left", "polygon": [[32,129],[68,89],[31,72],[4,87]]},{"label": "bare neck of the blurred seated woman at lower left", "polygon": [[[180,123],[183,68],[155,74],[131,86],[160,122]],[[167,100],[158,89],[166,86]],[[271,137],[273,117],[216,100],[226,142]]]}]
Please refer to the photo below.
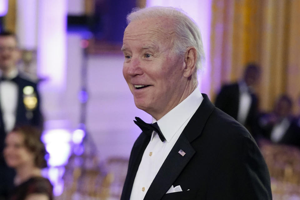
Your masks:
[{"label": "bare neck of the blurred seated woman at lower left", "polygon": [[16,168],[17,175],[15,177],[15,185],[19,185],[29,178],[42,176],[42,170],[32,165],[22,166]]}]

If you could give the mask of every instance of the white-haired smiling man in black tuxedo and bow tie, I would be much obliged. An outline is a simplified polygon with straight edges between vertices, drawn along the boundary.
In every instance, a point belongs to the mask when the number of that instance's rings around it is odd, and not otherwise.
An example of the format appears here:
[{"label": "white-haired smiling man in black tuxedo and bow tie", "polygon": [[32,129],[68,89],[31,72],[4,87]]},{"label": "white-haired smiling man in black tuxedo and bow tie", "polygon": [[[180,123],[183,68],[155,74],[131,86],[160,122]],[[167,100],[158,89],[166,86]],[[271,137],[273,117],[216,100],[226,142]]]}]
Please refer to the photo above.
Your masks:
[{"label": "white-haired smiling man in black tuxedo and bow tie", "polygon": [[197,88],[200,32],[182,11],[151,7],[128,15],[123,75],[137,108],[122,200],[272,199],[270,177],[248,131]]}]

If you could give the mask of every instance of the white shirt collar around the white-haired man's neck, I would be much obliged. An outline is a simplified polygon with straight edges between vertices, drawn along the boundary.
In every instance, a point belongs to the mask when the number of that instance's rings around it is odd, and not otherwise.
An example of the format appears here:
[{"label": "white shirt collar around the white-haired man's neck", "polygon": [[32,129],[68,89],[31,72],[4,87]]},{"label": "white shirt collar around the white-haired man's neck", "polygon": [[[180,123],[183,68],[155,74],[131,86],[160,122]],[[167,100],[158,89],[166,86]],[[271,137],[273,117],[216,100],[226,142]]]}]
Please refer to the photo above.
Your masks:
[{"label": "white shirt collar around the white-haired man's neck", "polygon": [[[158,121],[152,118],[152,123],[157,122],[161,132],[163,133],[163,136],[166,138],[166,141],[170,142],[183,123],[186,122],[196,112],[202,100],[203,96],[199,88],[196,88],[186,99],[184,99]],[[151,139],[152,138],[153,135]]]}]

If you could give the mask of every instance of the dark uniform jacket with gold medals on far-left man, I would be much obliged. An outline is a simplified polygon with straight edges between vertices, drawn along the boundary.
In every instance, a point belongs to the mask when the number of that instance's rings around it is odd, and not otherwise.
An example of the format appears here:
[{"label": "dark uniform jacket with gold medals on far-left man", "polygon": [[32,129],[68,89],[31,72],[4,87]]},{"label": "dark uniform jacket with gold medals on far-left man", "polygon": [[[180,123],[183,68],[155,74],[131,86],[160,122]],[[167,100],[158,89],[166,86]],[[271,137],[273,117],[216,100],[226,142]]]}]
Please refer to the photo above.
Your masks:
[{"label": "dark uniform jacket with gold medals on far-left man", "polygon": [[[22,75],[18,75],[14,78],[14,82],[18,86],[18,99],[17,99],[17,111],[16,111],[16,122],[15,125],[32,125],[42,130],[43,127],[43,118],[40,111],[40,97],[37,91],[37,84],[28,80]],[[26,86],[31,86],[34,89],[35,96],[37,98],[37,105],[33,110],[27,110],[24,105],[24,94],[23,88]],[[5,95],[5,94],[0,94]],[[3,148],[4,148],[4,139],[6,137],[5,133],[5,124],[3,122],[2,110],[0,106],[0,198],[1,194],[7,192],[7,188],[12,187],[12,181],[14,172],[12,169],[9,169],[3,158]]]}]

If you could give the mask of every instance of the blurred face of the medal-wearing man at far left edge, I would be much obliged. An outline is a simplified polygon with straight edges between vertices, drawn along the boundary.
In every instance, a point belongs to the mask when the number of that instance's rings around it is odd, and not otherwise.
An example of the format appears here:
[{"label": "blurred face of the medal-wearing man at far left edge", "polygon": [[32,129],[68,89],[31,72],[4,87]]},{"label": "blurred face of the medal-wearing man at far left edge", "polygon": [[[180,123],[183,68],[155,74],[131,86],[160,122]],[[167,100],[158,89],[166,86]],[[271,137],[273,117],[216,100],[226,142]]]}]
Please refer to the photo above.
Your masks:
[{"label": "blurred face of the medal-wearing man at far left edge", "polygon": [[10,71],[20,59],[17,41],[13,36],[0,36],[0,69]]}]

